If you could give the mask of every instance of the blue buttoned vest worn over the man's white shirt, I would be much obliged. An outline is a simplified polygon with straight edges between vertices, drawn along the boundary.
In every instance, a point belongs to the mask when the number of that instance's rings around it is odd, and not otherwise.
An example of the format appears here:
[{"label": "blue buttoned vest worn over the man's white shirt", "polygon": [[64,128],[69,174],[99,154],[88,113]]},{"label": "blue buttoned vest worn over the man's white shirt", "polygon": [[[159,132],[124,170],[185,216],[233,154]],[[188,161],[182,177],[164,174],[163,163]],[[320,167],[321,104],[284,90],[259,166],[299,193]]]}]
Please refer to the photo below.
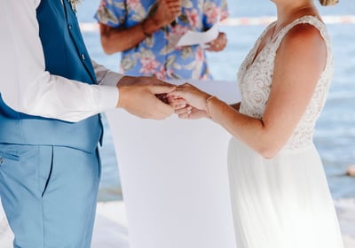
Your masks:
[{"label": "blue buttoned vest worn over the man's white shirt", "polygon": [[[42,0],[37,10],[45,69],[89,84],[96,82],[75,12],[67,0]],[[9,82],[9,87],[11,82]],[[16,112],[0,94],[0,143],[61,145],[94,151],[102,136],[99,114],[76,123]]]}]

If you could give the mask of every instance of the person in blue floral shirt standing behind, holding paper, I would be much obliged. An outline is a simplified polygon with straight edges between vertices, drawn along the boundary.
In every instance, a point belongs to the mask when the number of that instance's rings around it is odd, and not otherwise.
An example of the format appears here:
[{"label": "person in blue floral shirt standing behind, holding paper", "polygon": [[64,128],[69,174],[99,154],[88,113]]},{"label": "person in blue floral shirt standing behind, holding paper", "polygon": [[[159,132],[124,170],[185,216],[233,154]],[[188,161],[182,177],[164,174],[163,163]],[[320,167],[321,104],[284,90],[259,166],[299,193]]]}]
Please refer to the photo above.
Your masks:
[{"label": "person in blue floral shirt standing behind, holding paper", "polygon": [[224,50],[225,33],[203,46],[177,46],[177,40],[227,17],[226,0],[102,0],[95,15],[105,52],[122,52],[121,73],[163,80],[212,79],[205,51]]}]

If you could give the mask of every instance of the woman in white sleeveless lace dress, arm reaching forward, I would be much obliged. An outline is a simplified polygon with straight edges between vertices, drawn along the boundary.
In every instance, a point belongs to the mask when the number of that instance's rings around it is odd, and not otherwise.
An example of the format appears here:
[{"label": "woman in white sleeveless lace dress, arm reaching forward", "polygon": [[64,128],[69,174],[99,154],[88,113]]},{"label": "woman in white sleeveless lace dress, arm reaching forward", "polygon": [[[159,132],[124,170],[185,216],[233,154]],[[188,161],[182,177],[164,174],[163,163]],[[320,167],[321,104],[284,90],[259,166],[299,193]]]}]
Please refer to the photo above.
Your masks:
[{"label": "woman in white sleeveless lace dress, arm reaching forward", "polygon": [[[319,0],[320,4],[335,4]],[[341,248],[342,237],[312,143],[333,57],[312,0],[272,0],[265,28],[238,74],[241,103],[178,86],[180,118],[208,117],[233,135],[228,168],[238,248]]]}]

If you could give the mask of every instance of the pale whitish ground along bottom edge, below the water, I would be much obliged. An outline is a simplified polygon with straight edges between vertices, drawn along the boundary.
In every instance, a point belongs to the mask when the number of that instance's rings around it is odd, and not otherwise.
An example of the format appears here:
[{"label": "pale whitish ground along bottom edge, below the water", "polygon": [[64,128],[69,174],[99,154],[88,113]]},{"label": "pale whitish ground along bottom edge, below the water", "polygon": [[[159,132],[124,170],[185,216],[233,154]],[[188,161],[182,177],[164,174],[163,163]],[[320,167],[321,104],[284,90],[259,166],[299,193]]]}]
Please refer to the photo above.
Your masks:
[{"label": "pale whitish ground along bottom edge, below the water", "polygon": [[[344,248],[355,247],[355,198],[335,200]],[[99,202],[91,248],[129,248],[128,225],[122,201]],[[0,247],[12,248],[12,231],[0,208]]]}]

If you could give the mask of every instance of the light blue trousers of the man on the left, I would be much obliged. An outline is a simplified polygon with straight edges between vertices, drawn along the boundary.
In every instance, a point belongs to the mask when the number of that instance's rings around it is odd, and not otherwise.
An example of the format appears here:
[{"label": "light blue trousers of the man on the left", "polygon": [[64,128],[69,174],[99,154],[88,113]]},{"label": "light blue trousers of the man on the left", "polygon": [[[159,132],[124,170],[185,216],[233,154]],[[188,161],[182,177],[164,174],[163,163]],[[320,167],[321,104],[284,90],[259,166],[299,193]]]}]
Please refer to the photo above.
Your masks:
[{"label": "light blue trousers of the man on the left", "polygon": [[99,152],[0,144],[0,196],[16,248],[89,248]]}]

